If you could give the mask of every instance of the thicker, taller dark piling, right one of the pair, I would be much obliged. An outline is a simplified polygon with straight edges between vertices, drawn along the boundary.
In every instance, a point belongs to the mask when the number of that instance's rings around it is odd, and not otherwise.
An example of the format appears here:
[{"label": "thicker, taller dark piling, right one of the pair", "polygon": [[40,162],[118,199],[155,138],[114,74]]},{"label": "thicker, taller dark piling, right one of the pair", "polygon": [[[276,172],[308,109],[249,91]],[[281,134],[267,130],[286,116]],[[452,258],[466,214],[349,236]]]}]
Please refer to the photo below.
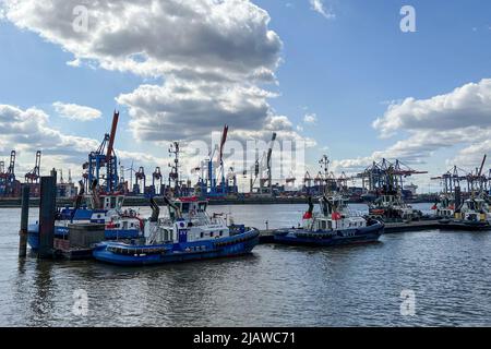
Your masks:
[{"label": "thicker, taller dark piling, right one of the pair", "polygon": [[50,177],[41,177],[40,179],[39,258],[50,258],[53,255],[56,208],[57,177],[56,172],[51,172]]}]

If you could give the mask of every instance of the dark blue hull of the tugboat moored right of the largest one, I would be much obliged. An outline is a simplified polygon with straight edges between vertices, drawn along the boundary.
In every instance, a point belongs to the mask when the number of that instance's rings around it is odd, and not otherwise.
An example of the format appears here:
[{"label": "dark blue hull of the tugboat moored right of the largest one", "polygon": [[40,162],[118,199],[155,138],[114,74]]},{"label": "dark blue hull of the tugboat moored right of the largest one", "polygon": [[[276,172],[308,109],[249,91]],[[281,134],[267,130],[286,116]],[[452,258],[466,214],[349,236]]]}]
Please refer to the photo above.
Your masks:
[{"label": "dark blue hull of the tugboat moored right of the largest one", "polygon": [[384,225],[381,222],[361,229],[338,230],[335,233],[287,229],[276,232],[274,242],[289,245],[338,246],[375,242],[383,231]]}]

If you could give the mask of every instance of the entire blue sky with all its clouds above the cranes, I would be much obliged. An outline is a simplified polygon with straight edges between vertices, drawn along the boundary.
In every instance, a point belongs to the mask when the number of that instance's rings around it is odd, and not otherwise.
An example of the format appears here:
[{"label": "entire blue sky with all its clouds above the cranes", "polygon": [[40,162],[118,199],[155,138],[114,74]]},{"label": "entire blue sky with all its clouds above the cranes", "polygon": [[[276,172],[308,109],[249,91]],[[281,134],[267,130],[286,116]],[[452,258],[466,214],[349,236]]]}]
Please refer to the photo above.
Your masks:
[{"label": "entire blue sky with all its clouds above the cranes", "polygon": [[[405,5],[415,32],[402,31]],[[230,140],[267,143],[277,132],[278,143],[304,142],[311,173],[323,154],[336,173],[398,158],[430,172],[409,179],[420,192],[438,190],[429,178],[453,165],[472,170],[491,155],[488,1],[0,0],[0,158],[16,149],[17,173],[41,149],[43,172],[76,179],[115,109],[121,164],[147,173],[168,171],[171,141],[191,148],[225,123]],[[184,147],[183,164],[203,156]]]}]

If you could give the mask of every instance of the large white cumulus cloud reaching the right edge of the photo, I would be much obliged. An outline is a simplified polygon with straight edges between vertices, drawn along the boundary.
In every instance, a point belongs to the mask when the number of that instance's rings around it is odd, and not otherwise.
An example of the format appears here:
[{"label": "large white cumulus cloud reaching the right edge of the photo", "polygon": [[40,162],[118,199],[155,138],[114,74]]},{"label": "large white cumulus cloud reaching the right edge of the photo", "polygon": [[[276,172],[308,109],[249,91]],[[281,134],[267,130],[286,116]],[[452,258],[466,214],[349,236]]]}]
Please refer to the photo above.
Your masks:
[{"label": "large white cumulus cloud reaching the right edge of the photo", "polygon": [[457,155],[447,159],[447,165],[474,167],[491,151],[491,80],[428,99],[406,98],[391,104],[373,127],[383,137],[408,135],[384,151],[340,160],[337,166],[358,170],[383,157],[423,164],[435,152],[454,148]]}]

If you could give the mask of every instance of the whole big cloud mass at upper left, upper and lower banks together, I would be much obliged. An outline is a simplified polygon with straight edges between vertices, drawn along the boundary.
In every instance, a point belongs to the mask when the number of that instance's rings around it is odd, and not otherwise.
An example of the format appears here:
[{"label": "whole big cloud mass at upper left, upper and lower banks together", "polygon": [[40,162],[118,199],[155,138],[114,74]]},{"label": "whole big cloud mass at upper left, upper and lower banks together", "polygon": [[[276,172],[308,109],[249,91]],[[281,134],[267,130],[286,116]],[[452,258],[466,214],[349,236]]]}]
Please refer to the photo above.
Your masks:
[{"label": "whole big cloud mass at upper left, upper and lower banks together", "polygon": [[[189,141],[228,123],[251,134],[285,129],[259,84],[275,83],[283,43],[270,15],[249,0],[5,0],[7,17],[74,57],[161,79],[117,97],[139,141]],[[88,31],[73,29],[73,9],[88,10]],[[275,121],[275,122],[272,122]],[[282,122],[279,122],[282,121]],[[278,129],[277,131],[282,131]],[[290,132],[290,130],[288,130]]]}]

